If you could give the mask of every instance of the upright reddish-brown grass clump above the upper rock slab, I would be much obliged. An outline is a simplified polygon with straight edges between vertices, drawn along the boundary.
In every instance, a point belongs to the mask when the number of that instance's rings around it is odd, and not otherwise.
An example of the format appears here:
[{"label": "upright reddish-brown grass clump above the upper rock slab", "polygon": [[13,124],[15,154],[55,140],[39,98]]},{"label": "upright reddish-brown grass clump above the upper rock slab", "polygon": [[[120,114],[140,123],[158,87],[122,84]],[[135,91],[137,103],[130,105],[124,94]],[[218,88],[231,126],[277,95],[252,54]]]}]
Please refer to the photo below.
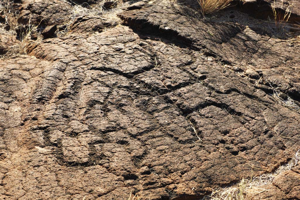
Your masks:
[{"label": "upright reddish-brown grass clump above the upper rock slab", "polygon": [[222,10],[229,6],[232,0],[198,0],[203,15]]}]

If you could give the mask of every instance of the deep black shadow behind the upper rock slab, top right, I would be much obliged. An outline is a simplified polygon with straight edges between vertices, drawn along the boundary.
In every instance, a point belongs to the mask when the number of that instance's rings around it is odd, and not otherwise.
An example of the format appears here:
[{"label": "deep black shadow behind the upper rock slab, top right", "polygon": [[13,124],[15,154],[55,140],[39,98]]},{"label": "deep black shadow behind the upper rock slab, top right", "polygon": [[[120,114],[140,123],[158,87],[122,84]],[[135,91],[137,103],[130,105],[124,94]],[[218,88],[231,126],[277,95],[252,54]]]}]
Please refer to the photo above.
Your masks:
[{"label": "deep black shadow behind the upper rock slab, top right", "polygon": [[[170,1],[172,2],[172,1]],[[291,12],[289,19],[287,21],[287,25],[276,26],[274,21],[274,13],[271,7],[271,3],[265,0],[253,0],[253,1],[239,1],[234,0],[226,9],[223,9],[219,12],[208,14],[207,16],[202,16],[200,13],[200,6],[197,1],[192,0],[176,0],[176,3],[179,5],[178,7],[172,6],[174,10],[177,10],[179,13],[183,13],[184,15],[191,16],[189,20],[193,23],[194,20],[197,19],[207,19],[205,22],[210,23],[211,17],[220,18],[220,22],[234,22],[242,25],[244,27],[248,26],[251,30],[260,35],[268,35],[269,37],[278,37],[280,39],[286,39],[285,34],[276,34],[277,32],[282,31],[281,29],[287,27],[289,28],[298,28],[300,24],[300,16],[297,13]],[[173,2],[174,4],[174,2]],[[172,4],[172,5],[173,5]],[[277,13],[280,16],[283,16],[286,13],[286,10],[283,7],[275,7]],[[247,15],[245,15],[245,14]],[[226,17],[225,17],[226,16]],[[240,19],[242,16],[242,19]],[[250,20],[247,19],[253,17],[257,20],[262,20],[262,25],[253,25],[250,23]],[[269,22],[268,22],[269,21]]]}]

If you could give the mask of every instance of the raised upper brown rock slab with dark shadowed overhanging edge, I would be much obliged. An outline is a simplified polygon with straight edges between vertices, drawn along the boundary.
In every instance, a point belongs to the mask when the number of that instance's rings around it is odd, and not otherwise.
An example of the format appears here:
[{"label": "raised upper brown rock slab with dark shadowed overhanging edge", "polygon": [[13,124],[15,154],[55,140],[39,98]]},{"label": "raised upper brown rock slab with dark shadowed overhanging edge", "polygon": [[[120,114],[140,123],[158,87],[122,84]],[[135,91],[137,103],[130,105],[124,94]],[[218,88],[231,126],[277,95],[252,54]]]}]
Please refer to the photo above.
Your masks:
[{"label": "raised upper brown rock slab with dark shadowed overhanging edge", "polygon": [[[205,52],[230,69],[244,72],[251,67],[261,72],[261,83],[279,87],[299,100],[299,47],[285,40],[260,35],[248,27],[231,22],[194,19],[182,7],[162,1],[133,4],[119,16],[126,25],[144,34],[160,35],[179,45]],[[239,13],[244,17],[244,14]],[[291,79],[292,76],[292,79]]]}]

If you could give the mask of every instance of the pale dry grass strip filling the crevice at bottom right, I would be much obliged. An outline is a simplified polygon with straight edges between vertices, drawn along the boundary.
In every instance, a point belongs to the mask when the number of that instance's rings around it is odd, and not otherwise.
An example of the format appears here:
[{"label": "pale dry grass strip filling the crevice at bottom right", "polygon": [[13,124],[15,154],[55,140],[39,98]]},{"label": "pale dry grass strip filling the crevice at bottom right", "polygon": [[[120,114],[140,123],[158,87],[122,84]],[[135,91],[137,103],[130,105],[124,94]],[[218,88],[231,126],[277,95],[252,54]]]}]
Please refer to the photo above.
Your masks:
[{"label": "pale dry grass strip filling the crevice at bottom right", "polygon": [[293,159],[286,165],[280,166],[275,172],[262,174],[249,179],[242,179],[238,184],[230,187],[219,187],[213,190],[210,195],[204,196],[202,200],[244,200],[253,193],[262,193],[268,191],[263,186],[271,184],[276,176],[293,166],[300,164],[300,150],[298,150]]}]

